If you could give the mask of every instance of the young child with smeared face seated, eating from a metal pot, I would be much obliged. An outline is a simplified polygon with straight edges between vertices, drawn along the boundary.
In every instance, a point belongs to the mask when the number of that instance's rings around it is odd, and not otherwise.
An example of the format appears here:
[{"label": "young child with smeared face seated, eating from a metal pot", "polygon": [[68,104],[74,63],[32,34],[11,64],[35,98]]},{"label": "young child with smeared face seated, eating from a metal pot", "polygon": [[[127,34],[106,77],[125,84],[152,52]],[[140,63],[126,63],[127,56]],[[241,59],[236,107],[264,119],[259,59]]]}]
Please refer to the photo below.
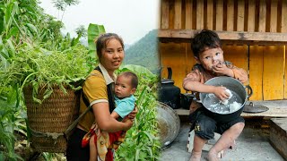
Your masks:
[{"label": "young child with smeared face seated, eating from a metal pot", "polygon": [[[192,50],[196,59],[196,65],[192,72],[187,74],[183,80],[183,88],[189,91],[213,93],[224,101],[229,98],[225,87],[205,85],[204,82],[216,76],[229,76],[241,82],[248,80],[245,70],[224,61],[222,43],[217,33],[212,30],[202,30],[192,40]],[[217,154],[230,145],[239,137],[244,128],[245,121],[242,117],[233,118],[228,123],[214,120],[202,104],[192,102],[190,106],[191,130],[195,129],[194,148],[192,150],[192,161],[199,161],[202,149],[207,140],[214,137],[214,132],[222,134],[213,148],[208,152],[208,160],[219,160]]]}]

